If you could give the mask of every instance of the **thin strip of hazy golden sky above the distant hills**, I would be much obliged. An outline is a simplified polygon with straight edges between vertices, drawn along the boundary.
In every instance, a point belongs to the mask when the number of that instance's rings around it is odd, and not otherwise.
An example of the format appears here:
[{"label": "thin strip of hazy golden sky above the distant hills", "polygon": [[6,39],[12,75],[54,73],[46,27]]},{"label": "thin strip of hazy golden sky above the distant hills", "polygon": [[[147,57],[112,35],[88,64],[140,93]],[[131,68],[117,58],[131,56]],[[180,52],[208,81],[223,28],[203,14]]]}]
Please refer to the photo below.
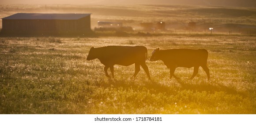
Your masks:
[{"label": "thin strip of hazy golden sky above the distant hills", "polygon": [[194,4],[256,7],[256,0],[0,0],[0,4]]}]

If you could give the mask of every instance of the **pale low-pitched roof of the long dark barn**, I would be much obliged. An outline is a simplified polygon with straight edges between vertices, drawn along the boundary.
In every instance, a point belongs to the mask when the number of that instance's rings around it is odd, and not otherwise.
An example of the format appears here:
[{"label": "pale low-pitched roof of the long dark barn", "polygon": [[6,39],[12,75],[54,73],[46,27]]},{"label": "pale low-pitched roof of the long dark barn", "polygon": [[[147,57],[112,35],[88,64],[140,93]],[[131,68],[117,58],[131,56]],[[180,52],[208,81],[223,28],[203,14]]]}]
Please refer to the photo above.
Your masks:
[{"label": "pale low-pitched roof of the long dark barn", "polygon": [[2,19],[77,20],[90,14],[17,13]]}]

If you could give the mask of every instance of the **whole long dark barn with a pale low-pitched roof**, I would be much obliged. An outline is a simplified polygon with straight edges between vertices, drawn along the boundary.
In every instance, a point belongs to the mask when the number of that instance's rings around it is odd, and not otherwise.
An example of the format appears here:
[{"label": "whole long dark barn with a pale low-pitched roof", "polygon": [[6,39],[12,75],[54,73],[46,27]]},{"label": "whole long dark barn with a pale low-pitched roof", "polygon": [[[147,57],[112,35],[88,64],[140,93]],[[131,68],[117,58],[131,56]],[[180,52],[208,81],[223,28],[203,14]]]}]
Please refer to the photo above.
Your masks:
[{"label": "whole long dark barn with a pale low-pitched roof", "polygon": [[85,35],[90,33],[90,14],[17,13],[2,18],[2,34]]}]

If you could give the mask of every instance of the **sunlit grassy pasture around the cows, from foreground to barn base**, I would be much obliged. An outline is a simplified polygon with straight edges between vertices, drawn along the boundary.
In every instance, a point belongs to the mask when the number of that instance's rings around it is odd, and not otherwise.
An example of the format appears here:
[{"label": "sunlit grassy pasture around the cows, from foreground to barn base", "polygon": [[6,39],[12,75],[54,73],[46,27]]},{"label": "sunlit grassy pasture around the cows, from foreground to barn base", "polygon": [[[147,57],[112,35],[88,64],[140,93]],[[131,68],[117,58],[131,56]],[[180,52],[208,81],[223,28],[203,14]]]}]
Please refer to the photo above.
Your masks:
[{"label": "sunlit grassy pasture around the cows, from foreground to barn base", "polygon": [[[162,61],[147,59],[152,80],[134,65],[115,65],[108,79],[91,46],[144,45],[205,48],[211,81],[202,68],[178,68],[169,80]],[[0,114],[255,114],[255,36],[186,34],[97,38],[0,37]],[[110,72],[110,71],[109,71]]]}]

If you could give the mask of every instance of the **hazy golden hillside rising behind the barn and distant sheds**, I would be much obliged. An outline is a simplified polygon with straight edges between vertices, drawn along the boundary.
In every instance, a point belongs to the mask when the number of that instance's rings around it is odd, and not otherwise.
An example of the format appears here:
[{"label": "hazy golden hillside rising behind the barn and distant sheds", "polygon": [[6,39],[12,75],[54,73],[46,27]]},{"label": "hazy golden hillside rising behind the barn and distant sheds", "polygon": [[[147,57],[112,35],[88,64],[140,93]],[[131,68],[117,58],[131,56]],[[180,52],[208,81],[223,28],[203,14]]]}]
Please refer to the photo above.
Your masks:
[{"label": "hazy golden hillside rising behind the barn and distant sheds", "polygon": [[[137,29],[141,22],[166,22],[167,29],[184,29],[196,22],[205,30],[223,24],[256,25],[256,8],[195,5],[0,5],[0,18],[15,13],[92,13],[91,27],[98,21],[123,22]],[[0,22],[1,23],[1,22]],[[0,24],[1,25],[1,24]],[[205,26],[203,26],[205,25]]]}]

